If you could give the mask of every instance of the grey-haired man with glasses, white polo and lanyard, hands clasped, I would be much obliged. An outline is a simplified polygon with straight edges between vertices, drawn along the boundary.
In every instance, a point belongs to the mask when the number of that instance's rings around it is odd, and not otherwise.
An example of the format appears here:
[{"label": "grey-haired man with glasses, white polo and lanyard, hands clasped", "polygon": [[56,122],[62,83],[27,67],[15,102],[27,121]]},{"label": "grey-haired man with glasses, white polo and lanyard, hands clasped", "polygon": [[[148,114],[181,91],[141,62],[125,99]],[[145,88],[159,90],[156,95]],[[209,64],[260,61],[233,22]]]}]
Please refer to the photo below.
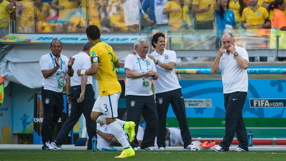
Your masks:
[{"label": "grey-haired man with glasses, white polo and lanyard, hands clasped", "polygon": [[[152,79],[157,80],[158,75],[154,62],[147,56],[149,49],[147,40],[137,39],[134,48],[136,55],[129,54],[124,62],[126,119],[135,122],[137,134],[142,112],[146,128],[140,148],[141,150],[153,150],[151,146],[157,134],[158,115],[151,84]],[[136,136],[133,142],[138,144]]]}]

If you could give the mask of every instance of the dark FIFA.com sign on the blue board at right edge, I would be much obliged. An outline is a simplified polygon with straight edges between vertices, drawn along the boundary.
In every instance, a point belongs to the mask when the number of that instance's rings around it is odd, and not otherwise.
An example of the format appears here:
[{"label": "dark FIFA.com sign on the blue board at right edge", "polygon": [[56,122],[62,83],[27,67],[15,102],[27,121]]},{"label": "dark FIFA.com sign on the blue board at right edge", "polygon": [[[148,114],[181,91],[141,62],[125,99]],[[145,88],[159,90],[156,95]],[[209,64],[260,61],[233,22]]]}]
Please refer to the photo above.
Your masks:
[{"label": "dark FIFA.com sign on the blue board at right edge", "polygon": [[250,99],[250,107],[284,107],[286,99]]}]

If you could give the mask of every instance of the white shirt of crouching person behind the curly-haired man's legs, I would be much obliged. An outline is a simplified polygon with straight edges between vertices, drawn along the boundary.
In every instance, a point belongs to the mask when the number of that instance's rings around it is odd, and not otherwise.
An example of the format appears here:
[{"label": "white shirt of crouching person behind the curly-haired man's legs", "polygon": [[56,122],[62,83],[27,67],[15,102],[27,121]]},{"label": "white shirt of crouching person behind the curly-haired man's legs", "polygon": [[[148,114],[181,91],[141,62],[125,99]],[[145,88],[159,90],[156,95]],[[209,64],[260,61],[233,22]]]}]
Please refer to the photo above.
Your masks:
[{"label": "white shirt of crouching person behind the curly-haired man's legs", "polygon": [[[169,139],[165,141],[166,147],[183,147],[184,142],[181,136],[181,130],[174,128],[174,127],[168,127],[170,130],[170,136]],[[157,145],[157,137],[155,138],[155,147],[158,147]]]}]

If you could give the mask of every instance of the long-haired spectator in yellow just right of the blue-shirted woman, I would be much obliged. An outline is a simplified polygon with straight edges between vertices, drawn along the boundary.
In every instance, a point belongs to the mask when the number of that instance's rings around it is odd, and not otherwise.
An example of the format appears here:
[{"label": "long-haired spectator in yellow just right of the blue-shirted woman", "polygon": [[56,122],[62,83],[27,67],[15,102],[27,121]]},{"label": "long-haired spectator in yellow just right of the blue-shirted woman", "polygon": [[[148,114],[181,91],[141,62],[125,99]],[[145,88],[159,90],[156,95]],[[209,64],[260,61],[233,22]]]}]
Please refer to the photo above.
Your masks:
[{"label": "long-haired spectator in yellow just right of the blue-shirted woman", "polygon": [[235,21],[237,22],[238,29],[243,29],[240,23],[241,23],[241,16],[242,16],[243,9],[246,6],[246,1],[245,0],[228,0],[228,2],[229,2],[229,9],[233,10],[235,14]]}]

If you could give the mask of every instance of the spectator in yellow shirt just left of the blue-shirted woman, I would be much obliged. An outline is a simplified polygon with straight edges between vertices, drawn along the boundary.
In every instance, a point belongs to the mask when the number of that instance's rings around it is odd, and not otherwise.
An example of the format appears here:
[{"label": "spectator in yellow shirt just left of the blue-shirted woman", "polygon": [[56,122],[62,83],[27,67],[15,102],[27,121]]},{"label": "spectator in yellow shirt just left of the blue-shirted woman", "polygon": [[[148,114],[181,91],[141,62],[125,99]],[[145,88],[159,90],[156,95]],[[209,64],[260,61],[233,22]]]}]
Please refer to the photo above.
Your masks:
[{"label": "spectator in yellow shirt just left of the blue-shirted woman", "polygon": [[195,30],[213,30],[215,0],[193,0],[193,11],[196,13]]}]

